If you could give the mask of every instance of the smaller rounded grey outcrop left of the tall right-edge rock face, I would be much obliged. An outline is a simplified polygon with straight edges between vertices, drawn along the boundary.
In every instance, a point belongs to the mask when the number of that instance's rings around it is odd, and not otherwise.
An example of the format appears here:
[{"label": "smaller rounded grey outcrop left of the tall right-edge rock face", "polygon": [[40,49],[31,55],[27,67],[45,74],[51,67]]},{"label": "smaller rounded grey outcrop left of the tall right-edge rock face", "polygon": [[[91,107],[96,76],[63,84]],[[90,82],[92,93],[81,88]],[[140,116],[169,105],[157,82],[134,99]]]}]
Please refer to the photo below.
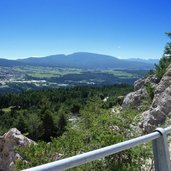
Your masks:
[{"label": "smaller rounded grey outcrop left of the tall right-edge rock face", "polygon": [[123,100],[122,107],[126,108],[129,106],[139,108],[144,99],[149,98],[148,92],[146,90],[146,85],[150,84],[152,87],[156,87],[158,79],[151,75],[146,79],[139,79],[134,83],[134,92],[129,93]]}]

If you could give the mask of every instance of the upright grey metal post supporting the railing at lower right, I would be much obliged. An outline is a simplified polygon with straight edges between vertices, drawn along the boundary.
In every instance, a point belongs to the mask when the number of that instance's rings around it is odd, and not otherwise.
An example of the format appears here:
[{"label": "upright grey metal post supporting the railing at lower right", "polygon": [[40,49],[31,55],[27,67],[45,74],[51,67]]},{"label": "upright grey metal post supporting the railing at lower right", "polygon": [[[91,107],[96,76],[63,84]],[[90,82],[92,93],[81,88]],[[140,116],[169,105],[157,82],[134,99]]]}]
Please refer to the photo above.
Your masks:
[{"label": "upright grey metal post supporting the railing at lower right", "polygon": [[156,171],[171,171],[167,135],[163,128],[157,128],[161,136],[153,140],[154,166]]}]

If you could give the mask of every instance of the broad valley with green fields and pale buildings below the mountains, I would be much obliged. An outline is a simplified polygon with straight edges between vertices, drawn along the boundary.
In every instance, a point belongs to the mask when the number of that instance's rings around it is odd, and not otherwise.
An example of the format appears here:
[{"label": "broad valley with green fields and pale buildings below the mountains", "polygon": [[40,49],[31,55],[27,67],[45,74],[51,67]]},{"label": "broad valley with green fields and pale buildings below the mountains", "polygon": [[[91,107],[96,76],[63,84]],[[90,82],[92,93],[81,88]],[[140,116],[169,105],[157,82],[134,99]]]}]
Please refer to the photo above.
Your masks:
[{"label": "broad valley with green fields and pale buildings below the mountains", "polygon": [[0,93],[81,85],[132,84],[146,73],[146,70],[94,70],[43,66],[1,66]]}]

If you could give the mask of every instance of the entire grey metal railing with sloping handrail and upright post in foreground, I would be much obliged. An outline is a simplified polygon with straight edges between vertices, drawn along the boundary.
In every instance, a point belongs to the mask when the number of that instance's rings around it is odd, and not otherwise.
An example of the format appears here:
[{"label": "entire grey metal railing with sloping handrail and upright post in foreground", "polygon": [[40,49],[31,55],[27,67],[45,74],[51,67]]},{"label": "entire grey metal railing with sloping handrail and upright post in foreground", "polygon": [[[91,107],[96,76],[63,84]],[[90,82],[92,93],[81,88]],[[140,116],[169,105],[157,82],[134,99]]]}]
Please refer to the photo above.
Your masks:
[{"label": "entire grey metal railing with sloping handrail and upright post in foreground", "polygon": [[156,171],[171,171],[170,156],[168,150],[167,134],[171,133],[171,127],[157,128],[154,132],[128,141],[100,148],[87,153],[79,154],[66,159],[43,164],[23,171],[61,171],[91,162],[111,154],[130,149],[140,144],[152,141],[154,166]]}]

